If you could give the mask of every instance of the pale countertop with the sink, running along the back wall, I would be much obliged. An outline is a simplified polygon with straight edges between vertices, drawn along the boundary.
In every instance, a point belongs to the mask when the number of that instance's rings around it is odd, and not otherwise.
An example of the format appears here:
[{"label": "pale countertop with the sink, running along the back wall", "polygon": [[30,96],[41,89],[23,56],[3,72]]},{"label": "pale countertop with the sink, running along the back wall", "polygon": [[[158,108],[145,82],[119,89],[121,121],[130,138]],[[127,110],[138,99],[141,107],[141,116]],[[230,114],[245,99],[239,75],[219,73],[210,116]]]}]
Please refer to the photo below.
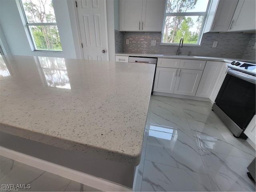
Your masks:
[{"label": "pale countertop with the sink, running along the back wall", "polygon": [[116,56],[134,56],[134,57],[156,57],[156,58],[172,58],[172,59],[207,60],[207,61],[220,61],[220,62],[227,62],[227,63],[230,63],[233,60],[241,60],[241,59],[234,59],[234,58],[216,58],[216,57],[187,56],[187,55],[132,54],[132,53],[131,54],[129,54],[129,53],[116,53]]}]

